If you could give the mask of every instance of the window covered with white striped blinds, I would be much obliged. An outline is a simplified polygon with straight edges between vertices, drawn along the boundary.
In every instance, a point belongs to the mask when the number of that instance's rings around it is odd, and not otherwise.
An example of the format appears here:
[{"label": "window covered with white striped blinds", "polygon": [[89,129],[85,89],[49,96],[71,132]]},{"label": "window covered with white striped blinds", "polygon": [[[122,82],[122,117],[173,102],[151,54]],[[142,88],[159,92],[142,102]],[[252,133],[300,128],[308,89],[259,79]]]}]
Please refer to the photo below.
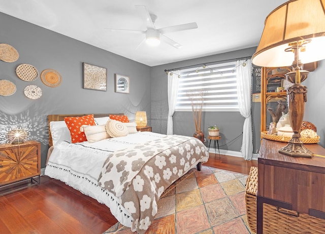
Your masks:
[{"label": "window covered with white striped blinds", "polygon": [[203,111],[239,111],[236,61],[183,69],[176,111],[191,111],[190,92],[203,92]]}]

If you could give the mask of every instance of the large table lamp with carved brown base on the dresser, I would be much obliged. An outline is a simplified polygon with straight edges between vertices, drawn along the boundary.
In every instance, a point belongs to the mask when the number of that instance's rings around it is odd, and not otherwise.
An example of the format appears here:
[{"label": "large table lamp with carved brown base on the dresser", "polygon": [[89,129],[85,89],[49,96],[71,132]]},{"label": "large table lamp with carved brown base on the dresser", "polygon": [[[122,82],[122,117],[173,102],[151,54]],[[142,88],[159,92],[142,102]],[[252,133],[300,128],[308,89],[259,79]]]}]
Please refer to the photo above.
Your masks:
[{"label": "large table lamp with carved brown base on the dresser", "polygon": [[258,66],[293,67],[286,79],[294,83],[287,88],[288,113],[294,135],[280,153],[293,157],[311,157],[300,140],[300,127],[307,102],[307,78],[303,64],[325,58],[325,0],[291,0],[273,10],[265,20],[261,41],[252,56]]}]

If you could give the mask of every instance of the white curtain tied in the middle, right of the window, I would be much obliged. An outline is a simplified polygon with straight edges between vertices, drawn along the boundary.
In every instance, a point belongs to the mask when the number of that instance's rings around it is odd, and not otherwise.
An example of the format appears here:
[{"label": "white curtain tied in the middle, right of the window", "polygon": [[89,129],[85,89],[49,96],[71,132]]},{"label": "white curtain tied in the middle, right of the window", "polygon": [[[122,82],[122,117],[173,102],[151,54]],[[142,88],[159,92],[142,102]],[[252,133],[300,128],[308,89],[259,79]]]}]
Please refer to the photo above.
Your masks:
[{"label": "white curtain tied in the middle, right of the window", "polygon": [[[243,64],[246,64],[243,66]],[[242,155],[245,160],[253,156],[253,133],[251,122],[251,60],[237,60],[237,90],[240,114],[245,118],[243,127]]]}]

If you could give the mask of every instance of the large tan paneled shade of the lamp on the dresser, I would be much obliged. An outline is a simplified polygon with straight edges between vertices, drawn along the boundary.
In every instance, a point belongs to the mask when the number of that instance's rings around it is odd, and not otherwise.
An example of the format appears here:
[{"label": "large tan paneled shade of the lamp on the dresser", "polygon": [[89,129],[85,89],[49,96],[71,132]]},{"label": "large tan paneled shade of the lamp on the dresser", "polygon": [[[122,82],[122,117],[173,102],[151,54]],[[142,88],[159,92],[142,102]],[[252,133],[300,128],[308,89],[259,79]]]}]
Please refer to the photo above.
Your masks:
[{"label": "large tan paneled shade of the lamp on the dresser", "polygon": [[252,63],[279,67],[293,63],[294,55],[285,52],[289,43],[310,40],[300,52],[302,63],[325,58],[325,0],[291,0],[273,10],[265,26]]}]

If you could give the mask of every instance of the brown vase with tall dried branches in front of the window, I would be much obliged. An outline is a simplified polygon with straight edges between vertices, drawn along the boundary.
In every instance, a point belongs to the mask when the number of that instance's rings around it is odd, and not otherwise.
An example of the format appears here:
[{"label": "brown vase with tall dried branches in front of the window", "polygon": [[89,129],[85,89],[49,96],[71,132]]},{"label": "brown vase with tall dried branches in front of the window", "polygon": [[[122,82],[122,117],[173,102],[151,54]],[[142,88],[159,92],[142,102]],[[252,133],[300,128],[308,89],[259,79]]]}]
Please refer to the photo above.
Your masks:
[{"label": "brown vase with tall dried branches in front of the window", "polygon": [[204,133],[201,129],[201,118],[202,118],[202,108],[204,102],[204,92],[192,91],[187,93],[188,98],[191,101],[194,124],[195,124],[195,133],[193,135],[194,138],[198,138],[202,142],[204,141]]}]

